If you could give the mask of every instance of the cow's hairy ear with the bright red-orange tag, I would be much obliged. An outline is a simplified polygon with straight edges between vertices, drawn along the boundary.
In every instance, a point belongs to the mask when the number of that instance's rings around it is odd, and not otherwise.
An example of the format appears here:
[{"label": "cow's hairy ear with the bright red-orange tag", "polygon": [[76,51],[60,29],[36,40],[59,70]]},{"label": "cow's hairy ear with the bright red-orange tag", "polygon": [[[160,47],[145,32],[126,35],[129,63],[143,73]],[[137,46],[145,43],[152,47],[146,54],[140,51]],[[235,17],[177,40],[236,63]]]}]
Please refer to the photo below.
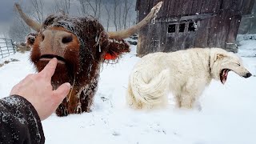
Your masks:
[{"label": "cow's hairy ear with the bright red-orange tag", "polygon": [[130,45],[123,39],[109,39],[109,46],[104,56],[106,61],[114,61],[122,54],[130,52]]}]

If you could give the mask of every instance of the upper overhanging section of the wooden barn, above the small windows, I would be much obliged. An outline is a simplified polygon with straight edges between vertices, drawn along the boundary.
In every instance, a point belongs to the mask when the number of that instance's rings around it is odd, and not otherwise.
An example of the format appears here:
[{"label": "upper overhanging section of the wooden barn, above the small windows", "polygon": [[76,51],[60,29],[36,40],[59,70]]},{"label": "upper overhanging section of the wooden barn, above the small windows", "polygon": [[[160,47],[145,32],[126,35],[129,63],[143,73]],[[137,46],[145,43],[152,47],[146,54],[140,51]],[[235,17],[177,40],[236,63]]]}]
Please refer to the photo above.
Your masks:
[{"label": "upper overhanging section of the wooden barn, above the small windows", "polygon": [[232,10],[233,14],[250,14],[254,0],[137,0],[136,10],[149,13],[150,7],[163,1],[158,18],[189,16],[196,14],[218,14]]}]

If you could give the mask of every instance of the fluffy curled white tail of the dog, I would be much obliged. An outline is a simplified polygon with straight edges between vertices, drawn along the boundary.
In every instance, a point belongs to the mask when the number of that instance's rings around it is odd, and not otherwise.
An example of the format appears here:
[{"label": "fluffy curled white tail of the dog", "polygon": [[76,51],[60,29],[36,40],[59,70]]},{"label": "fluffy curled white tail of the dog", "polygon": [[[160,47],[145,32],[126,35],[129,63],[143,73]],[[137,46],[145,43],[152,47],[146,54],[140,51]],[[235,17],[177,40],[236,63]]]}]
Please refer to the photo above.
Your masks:
[{"label": "fluffy curled white tail of the dog", "polygon": [[130,86],[136,101],[141,101],[149,105],[159,104],[165,99],[166,91],[169,87],[169,70],[162,70],[156,77],[148,82],[142,77],[138,71],[130,74]]}]

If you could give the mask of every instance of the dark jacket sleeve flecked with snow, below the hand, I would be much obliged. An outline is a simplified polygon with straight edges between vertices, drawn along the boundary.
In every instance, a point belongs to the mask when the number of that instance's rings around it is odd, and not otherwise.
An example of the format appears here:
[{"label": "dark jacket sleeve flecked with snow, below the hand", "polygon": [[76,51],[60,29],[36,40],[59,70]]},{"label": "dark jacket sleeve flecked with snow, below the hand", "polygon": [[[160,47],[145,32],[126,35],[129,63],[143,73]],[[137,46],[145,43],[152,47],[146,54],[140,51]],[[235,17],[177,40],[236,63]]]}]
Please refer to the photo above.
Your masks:
[{"label": "dark jacket sleeve flecked with snow, below the hand", "polygon": [[44,142],[41,120],[30,102],[18,95],[0,99],[0,144]]}]

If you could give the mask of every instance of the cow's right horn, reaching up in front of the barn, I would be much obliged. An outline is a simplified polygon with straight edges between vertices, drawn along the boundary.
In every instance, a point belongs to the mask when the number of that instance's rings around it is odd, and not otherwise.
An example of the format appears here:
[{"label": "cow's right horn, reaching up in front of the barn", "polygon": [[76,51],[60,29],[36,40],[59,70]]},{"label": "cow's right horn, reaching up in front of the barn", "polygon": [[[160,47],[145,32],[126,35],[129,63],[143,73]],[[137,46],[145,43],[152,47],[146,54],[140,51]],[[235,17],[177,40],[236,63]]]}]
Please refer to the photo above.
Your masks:
[{"label": "cow's right horn, reaching up in front of the barn", "polygon": [[157,16],[156,14],[158,14],[158,11],[160,10],[161,6],[162,6],[162,2],[158,2],[158,4],[151,9],[150,14],[147,14],[146,18],[142,19],[141,22],[138,22],[137,25],[132,26],[126,30],[109,32],[108,33],[109,37],[110,38],[128,38],[128,37],[130,37],[130,35],[136,33],[143,26],[146,26],[146,24],[148,24],[152,18],[155,18]]}]

